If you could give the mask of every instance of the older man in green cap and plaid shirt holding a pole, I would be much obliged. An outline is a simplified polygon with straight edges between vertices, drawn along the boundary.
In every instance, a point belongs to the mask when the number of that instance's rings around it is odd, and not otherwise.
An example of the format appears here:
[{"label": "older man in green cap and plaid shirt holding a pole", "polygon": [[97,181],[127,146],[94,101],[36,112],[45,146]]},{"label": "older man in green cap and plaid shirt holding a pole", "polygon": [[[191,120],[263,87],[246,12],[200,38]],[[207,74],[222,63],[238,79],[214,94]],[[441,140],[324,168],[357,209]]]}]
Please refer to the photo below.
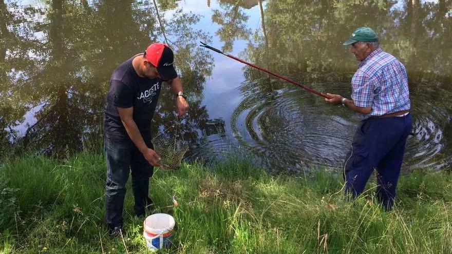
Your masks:
[{"label": "older man in green cap and plaid shirt holding a pole", "polygon": [[328,93],[331,99],[325,100],[364,115],[344,163],[345,191],[359,196],[375,168],[375,196],[390,210],[412,123],[406,70],[380,48],[377,34],[368,27],[354,30],[343,45],[350,45],[360,62],[351,80],[351,99]]}]

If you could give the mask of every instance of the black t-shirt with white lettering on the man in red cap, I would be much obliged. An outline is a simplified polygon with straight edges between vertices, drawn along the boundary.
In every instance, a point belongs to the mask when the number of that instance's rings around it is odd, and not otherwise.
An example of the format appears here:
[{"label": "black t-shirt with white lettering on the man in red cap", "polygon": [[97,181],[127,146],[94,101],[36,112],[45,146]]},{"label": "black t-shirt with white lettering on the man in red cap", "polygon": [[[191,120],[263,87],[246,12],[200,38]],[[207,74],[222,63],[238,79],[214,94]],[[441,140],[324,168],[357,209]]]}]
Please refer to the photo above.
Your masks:
[{"label": "black t-shirt with white lettering on the man in red cap", "polygon": [[150,122],[157,106],[162,80],[138,76],[132,66],[132,60],[136,56],[122,63],[111,74],[104,116],[104,133],[107,138],[129,138],[117,107],[134,107],[133,119],[140,133],[150,136]]}]

